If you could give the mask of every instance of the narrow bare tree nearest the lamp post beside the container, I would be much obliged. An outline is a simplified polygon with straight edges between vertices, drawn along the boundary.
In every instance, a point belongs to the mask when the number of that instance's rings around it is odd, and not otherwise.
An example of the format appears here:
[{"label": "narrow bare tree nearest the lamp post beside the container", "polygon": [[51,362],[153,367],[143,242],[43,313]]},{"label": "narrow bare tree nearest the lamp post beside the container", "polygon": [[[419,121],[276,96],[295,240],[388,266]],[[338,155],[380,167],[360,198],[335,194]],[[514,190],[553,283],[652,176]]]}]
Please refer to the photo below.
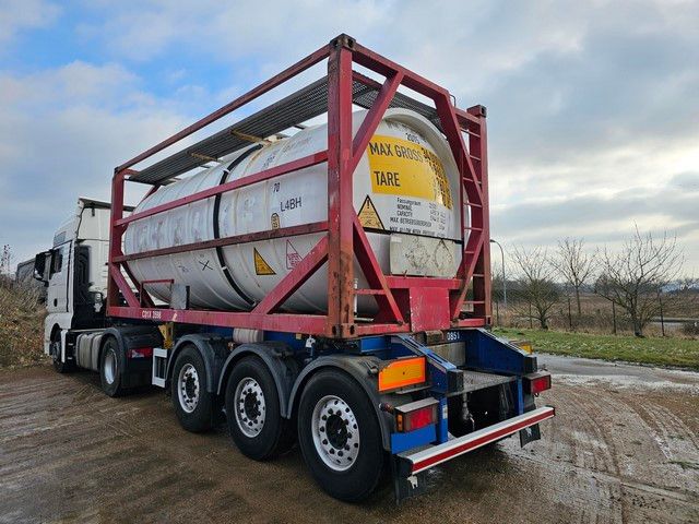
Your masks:
[{"label": "narrow bare tree nearest the lamp post beside the container", "polygon": [[512,259],[519,273],[517,293],[526,301],[528,307],[533,308],[526,314],[536,319],[542,330],[547,330],[553,308],[560,298],[560,289],[553,278],[555,270],[548,260],[548,252],[540,247],[531,250],[520,247],[512,251]]}]

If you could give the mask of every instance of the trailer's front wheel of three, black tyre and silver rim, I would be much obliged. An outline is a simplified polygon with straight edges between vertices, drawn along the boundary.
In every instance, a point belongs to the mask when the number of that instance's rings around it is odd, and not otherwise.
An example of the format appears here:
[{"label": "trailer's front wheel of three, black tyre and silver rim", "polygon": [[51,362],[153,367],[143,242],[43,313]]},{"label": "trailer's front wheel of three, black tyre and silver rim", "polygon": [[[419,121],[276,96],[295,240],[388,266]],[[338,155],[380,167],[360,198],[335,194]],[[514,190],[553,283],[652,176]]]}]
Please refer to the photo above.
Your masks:
[{"label": "trailer's front wheel of three, black tyre and silver rim", "polygon": [[204,360],[188,345],[177,356],[170,378],[175,414],[187,431],[201,433],[213,427],[214,398],[208,386]]}]

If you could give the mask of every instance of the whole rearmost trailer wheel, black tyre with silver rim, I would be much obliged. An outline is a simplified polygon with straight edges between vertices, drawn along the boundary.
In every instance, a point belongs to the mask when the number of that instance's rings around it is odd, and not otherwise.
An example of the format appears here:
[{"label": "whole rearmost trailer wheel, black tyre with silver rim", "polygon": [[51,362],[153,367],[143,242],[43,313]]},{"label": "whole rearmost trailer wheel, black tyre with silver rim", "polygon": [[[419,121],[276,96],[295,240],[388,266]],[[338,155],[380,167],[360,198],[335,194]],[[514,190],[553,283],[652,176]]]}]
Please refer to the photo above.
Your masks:
[{"label": "whole rearmost trailer wheel, black tyre with silver rim", "polygon": [[382,473],[381,430],[362,388],[337,370],[320,371],[298,406],[298,443],[316,481],[332,497],[367,498]]}]

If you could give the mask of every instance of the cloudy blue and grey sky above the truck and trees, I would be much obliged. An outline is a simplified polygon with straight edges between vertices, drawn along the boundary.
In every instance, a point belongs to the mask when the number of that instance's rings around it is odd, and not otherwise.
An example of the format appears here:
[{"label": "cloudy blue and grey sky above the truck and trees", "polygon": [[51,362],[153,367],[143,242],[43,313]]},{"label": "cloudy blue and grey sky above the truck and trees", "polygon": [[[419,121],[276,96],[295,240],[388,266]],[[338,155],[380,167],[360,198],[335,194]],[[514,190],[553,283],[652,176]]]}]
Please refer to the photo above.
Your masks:
[{"label": "cloudy blue and grey sky above the truck and trees", "polygon": [[340,33],[488,107],[506,249],[638,224],[699,275],[699,2],[682,0],[0,0],[0,243],[44,249],[114,166]]}]

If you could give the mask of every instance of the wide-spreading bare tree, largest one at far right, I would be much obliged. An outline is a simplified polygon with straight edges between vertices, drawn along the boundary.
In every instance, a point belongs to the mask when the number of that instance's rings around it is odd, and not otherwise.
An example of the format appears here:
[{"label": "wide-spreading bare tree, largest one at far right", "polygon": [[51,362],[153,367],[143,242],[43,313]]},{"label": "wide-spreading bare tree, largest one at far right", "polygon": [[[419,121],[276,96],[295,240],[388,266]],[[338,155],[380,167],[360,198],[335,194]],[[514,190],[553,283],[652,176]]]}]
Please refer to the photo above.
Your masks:
[{"label": "wide-spreading bare tree, largest one at far right", "polygon": [[651,233],[642,235],[637,226],[619,252],[605,246],[599,261],[595,293],[626,311],[636,336],[643,336],[643,329],[660,313],[663,287],[682,271],[684,259],[677,239],[667,231],[660,238]]}]

